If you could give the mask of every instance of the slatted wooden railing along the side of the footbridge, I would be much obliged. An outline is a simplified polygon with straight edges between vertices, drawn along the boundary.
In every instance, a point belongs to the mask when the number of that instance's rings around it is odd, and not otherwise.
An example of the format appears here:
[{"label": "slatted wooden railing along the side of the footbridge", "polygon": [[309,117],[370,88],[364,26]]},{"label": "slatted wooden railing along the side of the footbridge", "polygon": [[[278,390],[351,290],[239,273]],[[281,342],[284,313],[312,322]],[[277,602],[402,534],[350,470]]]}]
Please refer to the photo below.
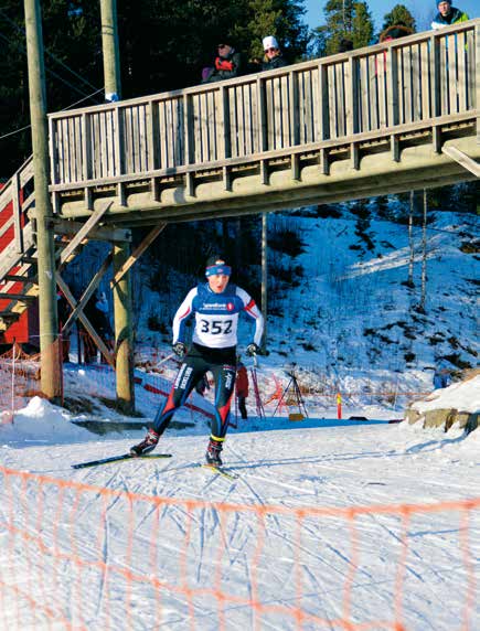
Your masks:
[{"label": "slatted wooden railing along the side of the footbridge", "polygon": [[235,164],[474,117],[480,20],[183,90],[50,115],[56,190]]}]

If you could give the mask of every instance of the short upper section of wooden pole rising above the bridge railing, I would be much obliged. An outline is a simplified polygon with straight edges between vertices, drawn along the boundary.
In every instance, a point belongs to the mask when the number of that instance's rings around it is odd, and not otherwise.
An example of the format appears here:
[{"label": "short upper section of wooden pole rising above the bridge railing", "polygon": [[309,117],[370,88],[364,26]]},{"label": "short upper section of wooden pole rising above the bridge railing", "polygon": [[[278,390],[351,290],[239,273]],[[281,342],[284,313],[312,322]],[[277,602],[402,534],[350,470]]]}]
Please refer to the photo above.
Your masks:
[{"label": "short upper section of wooden pole rising above the bridge railing", "polygon": [[102,47],[104,51],[105,100],[120,98],[120,55],[118,49],[117,0],[100,0]]}]

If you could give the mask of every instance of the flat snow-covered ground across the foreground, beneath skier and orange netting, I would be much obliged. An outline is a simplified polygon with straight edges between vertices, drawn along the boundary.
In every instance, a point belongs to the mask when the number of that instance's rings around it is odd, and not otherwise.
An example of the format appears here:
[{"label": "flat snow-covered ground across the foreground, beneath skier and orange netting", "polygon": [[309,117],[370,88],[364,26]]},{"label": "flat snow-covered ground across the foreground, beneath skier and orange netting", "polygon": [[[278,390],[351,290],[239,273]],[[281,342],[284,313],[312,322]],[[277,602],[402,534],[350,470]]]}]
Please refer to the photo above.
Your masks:
[{"label": "flat snow-covered ground across the foreground, beneath skier and orange netting", "polygon": [[[478,409],[478,386],[441,406]],[[322,416],[239,421],[232,481],[198,467],[200,413],[162,438],[171,459],[73,470],[145,429],[95,435],[32,399],[0,425],[0,629],[479,629],[480,430]]]}]

